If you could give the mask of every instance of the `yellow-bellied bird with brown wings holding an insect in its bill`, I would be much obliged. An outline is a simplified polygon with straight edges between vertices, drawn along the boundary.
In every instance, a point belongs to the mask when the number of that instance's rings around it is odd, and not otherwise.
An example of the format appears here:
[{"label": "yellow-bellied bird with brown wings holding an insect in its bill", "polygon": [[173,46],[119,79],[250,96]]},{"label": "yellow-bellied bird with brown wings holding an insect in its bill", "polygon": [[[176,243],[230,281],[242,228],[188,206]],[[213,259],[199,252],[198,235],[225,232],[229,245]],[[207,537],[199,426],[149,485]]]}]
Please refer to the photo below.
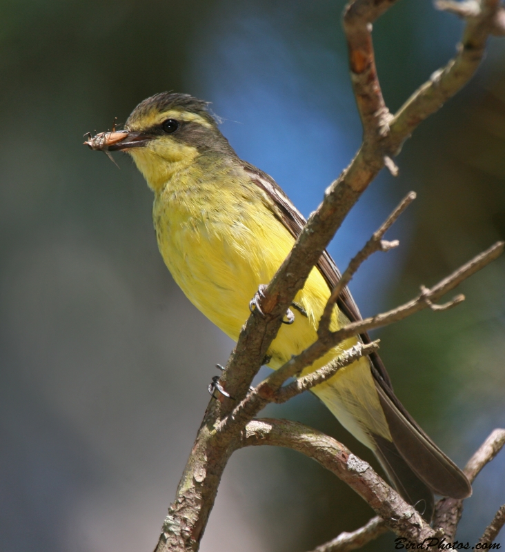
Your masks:
[{"label": "yellow-bellied bird with brown wings holding an insect in its bill", "polygon": [[[267,127],[268,128],[268,127]],[[128,153],[154,193],[152,218],[159,251],[186,297],[237,341],[251,297],[268,284],[306,224],[274,179],[240,159],[219,130],[208,102],[161,92],[132,111],[123,130],[85,142]],[[277,369],[317,339],[317,325],[340,274],[324,251],[299,290],[267,365]],[[361,319],[348,288],[330,330]],[[328,364],[357,344],[335,346],[304,373]],[[393,392],[377,353],[339,370],[312,392],[344,428],[371,449],[390,482],[427,520],[434,493],[463,499],[466,475],[424,433]]]}]

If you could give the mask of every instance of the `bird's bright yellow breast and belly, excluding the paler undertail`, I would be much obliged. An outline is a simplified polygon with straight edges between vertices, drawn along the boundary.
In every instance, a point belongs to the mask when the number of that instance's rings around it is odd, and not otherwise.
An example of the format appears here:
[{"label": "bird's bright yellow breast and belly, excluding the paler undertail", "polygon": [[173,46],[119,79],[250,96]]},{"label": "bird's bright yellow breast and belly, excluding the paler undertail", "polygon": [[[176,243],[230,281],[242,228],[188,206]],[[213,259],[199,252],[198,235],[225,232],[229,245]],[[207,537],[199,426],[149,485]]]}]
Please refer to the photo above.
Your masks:
[{"label": "bird's bright yellow breast and belly, excluding the paler undertail", "polygon": [[[270,282],[294,243],[265,201],[262,190],[232,167],[208,179],[192,166],[155,197],[153,218],[166,265],[190,301],[235,340],[259,284]],[[328,295],[313,269],[296,297],[308,317],[295,311],[295,323],[281,327],[269,352],[273,367],[315,341]]]}]

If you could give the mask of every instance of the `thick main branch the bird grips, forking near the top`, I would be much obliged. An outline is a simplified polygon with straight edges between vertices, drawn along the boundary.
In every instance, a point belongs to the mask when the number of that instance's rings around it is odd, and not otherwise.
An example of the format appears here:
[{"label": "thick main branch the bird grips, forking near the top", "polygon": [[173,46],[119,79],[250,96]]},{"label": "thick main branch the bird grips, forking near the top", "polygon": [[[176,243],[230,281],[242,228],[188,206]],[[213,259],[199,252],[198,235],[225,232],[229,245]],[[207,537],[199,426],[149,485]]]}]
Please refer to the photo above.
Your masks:
[{"label": "thick main branch the bird grips, forking near the top", "polygon": [[[493,21],[498,10],[497,0],[483,0],[479,14],[468,19],[462,40],[463,46],[455,59],[450,61],[446,68],[437,72],[426,85],[419,88],[392,119],[384,105],[377,79],[371,23],[393,3],[394,0],[355,0],[346,8],[344,28],[349,43],[353,88],[364,125],[364,140],[350,165],[326,190],[324,201],[310,216],[293,250],[268,284],[265,297],[261,300],[261,311],[265,315],[261,316],[258,309],[255,310],[241,331],[237,346],[221,377],[221,384],[238,401],[246,397],[252,378],[259,370],[270,344],[277,335],[281,319],[296,293],[303,288],[310,270],[317,264],[342,221],[368,184],[379,170],[382,170],[384,164],[388,164],[394,172],[395,166],[391,158],[397,155],[403,141],[420,121],[441,107],[444,101],[457,92],[475,72],[482,59],[486,37],[494,28]],[[422,300],[418,298],[415,304],[404,306],[403,311],[390,311],[380,315],[382,318],[355,322],[354,325],[346,326],[343,333],[338,336],[332,334],[328,338],[325,337],[325,340],[328,340],[328,343],[324,344],[328,347],[326,350],[333,346],[330,343],[331,339],[344,339],[343,335],[346,332],[349,336],[356,335],[359,331],[367,331],[402,319],[408,315],[406,311],[409,308],[415,312],[430,306],[430,302],[446,293],[452,288],[452,284],[454,287],[459,283],[455,283],[455,280],[457,278],[444,290],[437,290],[435,286],[428,292],[423,292]],[[442,283],[439,284],[441,285]],[[321,340],[318,343],[320,342]],[[315,352],[311,350],[310,354]],[[299,355],[299,358],[303,355],[304,353]],[[306,365],[308,364],[304,366]],[[286,363],[284,375],[294,375],[299,370],[299,366],[290,366]],[[229,431],[216,431],[216,428],[232,413],[236,404],[223,395],[219,395],[218,400],[210,401],[179,483],[177,498],[170,506],[164,523],[157,552],[198,549],[215,501],[217,486],[228,457],[238,446],[237,440],[241,430],[240,426],[234,424],[228,427]],[[388,495],[384,498],[386,500]]]}]

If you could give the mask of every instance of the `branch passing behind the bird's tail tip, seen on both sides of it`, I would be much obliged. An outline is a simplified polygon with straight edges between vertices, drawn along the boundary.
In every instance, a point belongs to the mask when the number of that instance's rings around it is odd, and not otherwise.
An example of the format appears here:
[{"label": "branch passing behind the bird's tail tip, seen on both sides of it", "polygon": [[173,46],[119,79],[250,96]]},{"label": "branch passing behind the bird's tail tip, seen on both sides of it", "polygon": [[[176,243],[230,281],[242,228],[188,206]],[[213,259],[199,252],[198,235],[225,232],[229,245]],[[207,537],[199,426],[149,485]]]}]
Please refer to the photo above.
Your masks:
[{"label": "branch passing behind the bird's tail tip, seen on both sides of it", "polygon": [[[505,429],[495,429],[466,463],[464,473],[471,483],[484,466],[502,450],[505,445]],[[463,513],[463,501],[455,498],[442,498],[435,507],[433,526],[443,531],[448,541],[456,535],[457,524]]]}]

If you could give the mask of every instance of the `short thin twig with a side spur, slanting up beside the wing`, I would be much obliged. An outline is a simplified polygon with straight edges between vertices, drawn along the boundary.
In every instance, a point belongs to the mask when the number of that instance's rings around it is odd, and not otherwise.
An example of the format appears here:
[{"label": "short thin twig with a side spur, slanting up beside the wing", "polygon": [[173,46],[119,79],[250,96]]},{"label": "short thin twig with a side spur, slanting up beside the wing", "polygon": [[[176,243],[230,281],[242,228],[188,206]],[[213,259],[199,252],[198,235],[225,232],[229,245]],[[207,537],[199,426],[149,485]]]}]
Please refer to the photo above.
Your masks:
[{"label": "short thin twig with a side spur, slanting up beside the wing", "polygon": [[399,205],[393,213],[389,215],[389,217],[386,219],[384,224],[377,230],[375,233],[373,233],[372,237],[366,242],[362,250],[355,255],[355,257],[350,261],[349,266],[344,270],[344,273],[342,274],[341,278],[339,279],[338,284],[333,288],[333,291],[330,295],[330,298],[328,299],[328,302],[326,302],[326,306],[324,307],[323,315],[321,316],[321,319],[319,320],[319,327],[317,328],[317,335],[321,337],[321,335],[326,335],[328,333],[330,328],[330,322],[331,322],[331,315],[333,313],[333,306],[335,305],[335,302],[337,302],[337,299],[339,298],[340,294],[342,293],[342,290],[348,285],[350,280],[355,275],[357,269],[363,264],[363,262],[370,257],[370,255],[373,255],[376,251],[389,251],[390,249],[397,247],[399,242],[384,242],[383,237],[384,234],[389,230],[393,224],[397,221],[398,217],[402,215],[404,210],[414,201],[416,197],[415,192],[410,192],[402,201],[400,201]]}]

